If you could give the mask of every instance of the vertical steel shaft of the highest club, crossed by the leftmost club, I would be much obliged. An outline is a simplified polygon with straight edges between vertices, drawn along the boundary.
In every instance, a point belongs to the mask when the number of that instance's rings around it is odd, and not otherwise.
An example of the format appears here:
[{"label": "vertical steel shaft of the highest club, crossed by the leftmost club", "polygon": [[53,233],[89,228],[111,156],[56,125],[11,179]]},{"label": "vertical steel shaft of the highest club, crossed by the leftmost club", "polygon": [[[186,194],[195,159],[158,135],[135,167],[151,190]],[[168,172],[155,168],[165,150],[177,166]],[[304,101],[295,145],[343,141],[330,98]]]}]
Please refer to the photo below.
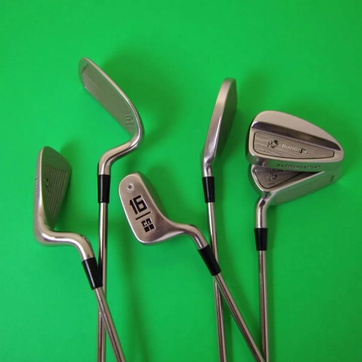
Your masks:
[{"label": "vertical steel shaft of the highest club, crossed by the leftmost club", "polygon": [[[108,203],[99,204],[99,255],[98,268],[101,273],[103,291],[106,294],[106,272],[107,272],[107,230],[108,230]],[[97,361],[105,362],[106,359],[106,334],[102,321],[101,308],[98,309],[98,348]]]}]

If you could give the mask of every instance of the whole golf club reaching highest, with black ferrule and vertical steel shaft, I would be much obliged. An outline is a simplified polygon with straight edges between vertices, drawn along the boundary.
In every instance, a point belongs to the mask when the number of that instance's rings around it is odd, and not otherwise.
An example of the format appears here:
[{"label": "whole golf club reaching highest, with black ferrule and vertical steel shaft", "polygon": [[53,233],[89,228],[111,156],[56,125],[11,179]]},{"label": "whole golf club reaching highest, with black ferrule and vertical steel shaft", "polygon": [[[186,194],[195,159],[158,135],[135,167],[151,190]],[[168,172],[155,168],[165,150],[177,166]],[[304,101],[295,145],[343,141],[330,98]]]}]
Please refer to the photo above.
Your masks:
[{"label": "whole golf club reaching highest, with black ferrule and vertical steel shaft", "polygon": [[[99,203],[99,257],[98,267],[106,293],[108,204],[110,194],[110,172],[114,161],[138,147],[143,134],[142,121],[136,108],[126,94],[104,71],[88,58],[79,62],[79,77],[84,88],[108,111],[108,113],[131,135],[131,139],[121,146],[106,151],[98,162],[98,203]],[[97,361],[105,362],[105,333],[101,311],[98,311]]]}]

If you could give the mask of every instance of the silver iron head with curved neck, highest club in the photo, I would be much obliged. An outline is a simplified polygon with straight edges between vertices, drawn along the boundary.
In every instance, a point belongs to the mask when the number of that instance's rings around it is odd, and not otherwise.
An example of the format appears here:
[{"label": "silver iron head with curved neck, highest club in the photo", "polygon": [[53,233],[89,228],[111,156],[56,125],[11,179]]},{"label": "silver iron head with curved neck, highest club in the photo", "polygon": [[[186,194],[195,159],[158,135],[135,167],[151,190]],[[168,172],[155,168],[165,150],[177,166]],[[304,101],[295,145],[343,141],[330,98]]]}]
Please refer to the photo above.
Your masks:
[{"label": "silver iron head with curved neck, highest club in the photo", "polygon": [[128,142],[102,155],[98,164],[98,174],[109,174],[113,161],[138,147],[144,132],[143,123],[126,94],[92,60],[82,58],[78,68],[83,87],[132,135]]}]

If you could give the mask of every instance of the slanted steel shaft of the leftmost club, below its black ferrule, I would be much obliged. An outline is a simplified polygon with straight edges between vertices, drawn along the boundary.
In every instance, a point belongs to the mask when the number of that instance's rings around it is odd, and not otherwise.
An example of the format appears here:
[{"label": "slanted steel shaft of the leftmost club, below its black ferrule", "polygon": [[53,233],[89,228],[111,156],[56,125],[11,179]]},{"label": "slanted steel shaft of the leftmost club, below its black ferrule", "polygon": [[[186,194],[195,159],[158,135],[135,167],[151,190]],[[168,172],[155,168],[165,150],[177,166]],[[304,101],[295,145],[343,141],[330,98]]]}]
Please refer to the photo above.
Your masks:
[{"label": "slanted steel shaft of the leftmost club, below its black ferrule", "polygon": [[113,353],[117,362],[126,362],[125,356],[123,355],[121,343],[118,339],[117,331],[115,330],[112,316],[110,314],[108,304],[102,288],[94,289],[96,298],[98,301],[99,311],[103,318],[104,326],[108,332],[109,340],[112,345]]}]

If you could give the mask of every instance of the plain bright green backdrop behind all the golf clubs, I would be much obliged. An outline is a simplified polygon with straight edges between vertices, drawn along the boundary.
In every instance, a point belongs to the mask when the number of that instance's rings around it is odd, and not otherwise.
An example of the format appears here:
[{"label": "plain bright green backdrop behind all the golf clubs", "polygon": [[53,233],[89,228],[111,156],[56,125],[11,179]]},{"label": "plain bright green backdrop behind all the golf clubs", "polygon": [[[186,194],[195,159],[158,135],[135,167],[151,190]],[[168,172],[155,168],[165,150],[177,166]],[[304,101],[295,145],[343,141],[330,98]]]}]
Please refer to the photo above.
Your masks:
[{"label": "plain bright green backdrop behind all the golf clubs", "polygon": [[[83,56],[130,97],[146,134],[112,168],[108,300],[127,361],[218,359],[211,278],[193,243],[139,244],[117,186],[145,173],[173,220],[207,233],[200,155],[225,77],[238,111],[214,169],[224,278],[260,345],[247,127],[272,109],[324,128],[344,147],[342,178],[269,212],[271,361],[362,361],[361,16],[358,0],[2,1],[0,361],[96,360],[97,305],[77,252],[32,234],[48,145],[73,169],[58,228],[97,249],[97,161],[128,135],[81,87]],[[225,324],[229,361],[253,361],[227,311]]]}]

